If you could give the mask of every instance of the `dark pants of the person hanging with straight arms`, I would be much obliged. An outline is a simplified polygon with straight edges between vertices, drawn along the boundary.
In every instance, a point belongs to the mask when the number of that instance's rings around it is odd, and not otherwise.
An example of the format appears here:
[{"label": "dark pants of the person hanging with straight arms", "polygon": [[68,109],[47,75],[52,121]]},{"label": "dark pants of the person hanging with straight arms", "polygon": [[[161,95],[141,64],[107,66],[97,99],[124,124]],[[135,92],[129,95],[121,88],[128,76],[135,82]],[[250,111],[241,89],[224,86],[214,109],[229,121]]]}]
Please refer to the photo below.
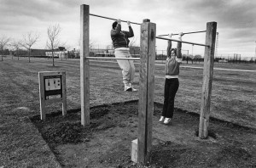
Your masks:
[{"label": "dark pants of the person hanging with straight arms", "polygon": [[166,79],[165,83],[165,100],[162,116],[172,118],[174,111],[174,98],[179,86],[177,78]]}]

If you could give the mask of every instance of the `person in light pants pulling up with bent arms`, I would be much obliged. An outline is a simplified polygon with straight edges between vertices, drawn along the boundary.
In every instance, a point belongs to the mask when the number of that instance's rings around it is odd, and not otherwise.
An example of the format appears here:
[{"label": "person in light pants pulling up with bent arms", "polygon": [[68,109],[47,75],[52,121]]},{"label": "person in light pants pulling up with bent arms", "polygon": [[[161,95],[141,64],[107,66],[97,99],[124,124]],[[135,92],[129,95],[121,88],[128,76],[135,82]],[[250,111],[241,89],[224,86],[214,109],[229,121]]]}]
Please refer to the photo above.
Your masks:
[{"label": "person in light pants pulling up with bent arms", "polygon": [[[130,21],[127,21],[129,31],[121,31],[121,20],[113,22],[112,30],[110,32],[113,42],[115,58],[131,58],[129,39],[134,36]],[[135,67],[133,60],[117,59],[119,67],[122,69],[123,82],[125,84],[125,91],[137,91],[132,86],[135,75]]]}]

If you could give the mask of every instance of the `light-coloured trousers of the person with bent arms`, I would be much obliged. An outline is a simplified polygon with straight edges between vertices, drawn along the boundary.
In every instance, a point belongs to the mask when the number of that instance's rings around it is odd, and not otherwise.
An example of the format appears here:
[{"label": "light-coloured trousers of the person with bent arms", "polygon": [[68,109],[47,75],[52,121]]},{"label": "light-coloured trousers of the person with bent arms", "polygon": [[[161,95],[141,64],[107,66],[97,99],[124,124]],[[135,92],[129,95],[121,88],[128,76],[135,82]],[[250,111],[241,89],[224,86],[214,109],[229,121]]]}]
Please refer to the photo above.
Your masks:
[{"label": "light-coloured trousers of the person with bent arms", "polygon": [[[131,58],[130,48],[116,48],[115,58]],[[122,69],[123,82],[128,86],[134,80],[135,67],[133,60],[117,59],[119,67]]]}]

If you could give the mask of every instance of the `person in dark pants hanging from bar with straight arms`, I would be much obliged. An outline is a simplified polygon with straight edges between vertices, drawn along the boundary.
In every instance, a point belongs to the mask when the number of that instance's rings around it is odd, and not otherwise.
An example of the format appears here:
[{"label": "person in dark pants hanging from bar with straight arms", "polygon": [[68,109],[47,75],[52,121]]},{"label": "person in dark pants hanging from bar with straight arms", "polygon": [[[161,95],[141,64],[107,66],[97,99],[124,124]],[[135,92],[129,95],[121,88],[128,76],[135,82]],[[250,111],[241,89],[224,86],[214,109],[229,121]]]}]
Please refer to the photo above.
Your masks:
[{"label": "person in dark pants hanging from bar with straight arms", "polygon": [[[172,38],[172,34],[169,35]],[[183,32],[179,33],[178,39],[182,41]],[[179,64],[182,63],[182,42],[177,42],[177,48],[172,48],[172,41],[168,41],[167,47],[167,59],[166,59],[166,81],[165,81],[165,92],[164,92],[164,107],[160,122],[169,124],[172,121],[174,111],[174,98],[179,87],[178,75],[179,75]]]}]

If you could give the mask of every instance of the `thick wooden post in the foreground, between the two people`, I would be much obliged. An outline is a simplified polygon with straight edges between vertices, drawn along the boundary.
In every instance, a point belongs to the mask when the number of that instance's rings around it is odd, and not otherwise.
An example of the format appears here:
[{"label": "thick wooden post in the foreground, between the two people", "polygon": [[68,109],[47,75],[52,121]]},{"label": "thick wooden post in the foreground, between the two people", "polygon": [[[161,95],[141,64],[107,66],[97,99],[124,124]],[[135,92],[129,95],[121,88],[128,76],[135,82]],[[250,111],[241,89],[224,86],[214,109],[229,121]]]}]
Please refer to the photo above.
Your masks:
[{"label": "thick wooden post in the foreground, between the two people", "polygon": [[149,21],[150,20],[143,20],[143,24],[141,25],[140,93],[137,145],[137,161],[140,164],[145,164],[150,161],[152,143],[156,25]]}]

